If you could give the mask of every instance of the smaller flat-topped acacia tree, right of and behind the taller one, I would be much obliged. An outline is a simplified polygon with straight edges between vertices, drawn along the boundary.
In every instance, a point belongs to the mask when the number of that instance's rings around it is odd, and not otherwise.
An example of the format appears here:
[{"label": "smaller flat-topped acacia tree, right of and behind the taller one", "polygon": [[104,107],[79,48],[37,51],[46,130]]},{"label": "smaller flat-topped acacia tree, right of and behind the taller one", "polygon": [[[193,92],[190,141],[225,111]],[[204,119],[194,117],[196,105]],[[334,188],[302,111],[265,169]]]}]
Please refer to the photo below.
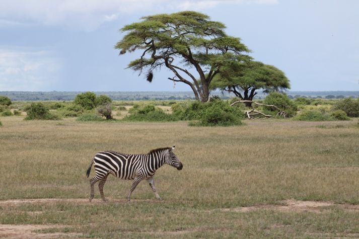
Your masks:
[{"label": "smaller flat-topped acacia tree, right of and behind the taller one", "polygon": [[[273,65],[259,61],[231,61],[221,68],[210,84],[210,89],[232,92],[244,101],[252,101],[257,90],[265,93],[290,89],[289,79]],[[251,102],[246,102],[248,107]]]}]

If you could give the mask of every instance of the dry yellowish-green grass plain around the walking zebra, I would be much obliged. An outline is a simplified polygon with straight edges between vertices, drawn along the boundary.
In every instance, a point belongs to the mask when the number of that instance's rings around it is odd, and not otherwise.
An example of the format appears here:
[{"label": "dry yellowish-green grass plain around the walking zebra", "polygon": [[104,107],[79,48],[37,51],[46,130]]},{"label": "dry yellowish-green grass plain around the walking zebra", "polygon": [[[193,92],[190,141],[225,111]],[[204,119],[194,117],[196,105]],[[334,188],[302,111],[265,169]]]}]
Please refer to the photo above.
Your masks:
[{"label": "dry yellowish-green grass plain around the walking zebra", "polygon": [[[19,236],[19,228],[27,237],[359,237],[357,119],[232,127],[1,121],[0,237]],[[131,182],[112,176],[109,201],[96,186],[88,202],[86,170],[97,151],[147,153],[173,144],[184,168],[158,170],[164,202],[141,182],[127,203]]]}]

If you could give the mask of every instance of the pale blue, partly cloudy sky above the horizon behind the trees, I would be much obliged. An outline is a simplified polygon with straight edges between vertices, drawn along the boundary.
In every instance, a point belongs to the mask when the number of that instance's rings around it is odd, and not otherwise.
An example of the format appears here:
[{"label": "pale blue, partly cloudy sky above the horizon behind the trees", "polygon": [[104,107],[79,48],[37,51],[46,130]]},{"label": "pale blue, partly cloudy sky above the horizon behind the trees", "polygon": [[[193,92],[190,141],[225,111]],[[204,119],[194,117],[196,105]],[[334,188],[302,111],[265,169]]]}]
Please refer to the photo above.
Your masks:
[{"label": "pale blue, partly cloudy sky above the horizon behind the trees", "polygon": [[292,91],[359,91],[357,0],[0,0],[0,91],[191,91],[162,68],[153,82],[114,45],[142,16],[197,11]]}]

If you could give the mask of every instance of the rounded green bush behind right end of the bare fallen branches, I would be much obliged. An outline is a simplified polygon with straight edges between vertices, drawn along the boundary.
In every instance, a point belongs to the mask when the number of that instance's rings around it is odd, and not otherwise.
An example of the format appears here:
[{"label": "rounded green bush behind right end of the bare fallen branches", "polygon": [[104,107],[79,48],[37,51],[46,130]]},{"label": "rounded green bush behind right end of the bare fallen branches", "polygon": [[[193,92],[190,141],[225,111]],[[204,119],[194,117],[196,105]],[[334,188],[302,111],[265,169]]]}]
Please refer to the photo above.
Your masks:
[{"label": "rounded green bush behind right end of the bare fallen branches", "polygon": [[[271,92],[263,101],[266,105],[275,105],[285,112],[295,115],[297,111],[297,106],[294,102],[284,93]],[[269,111],[276,111],[276,109],[271,107],[266,107]]]}]

